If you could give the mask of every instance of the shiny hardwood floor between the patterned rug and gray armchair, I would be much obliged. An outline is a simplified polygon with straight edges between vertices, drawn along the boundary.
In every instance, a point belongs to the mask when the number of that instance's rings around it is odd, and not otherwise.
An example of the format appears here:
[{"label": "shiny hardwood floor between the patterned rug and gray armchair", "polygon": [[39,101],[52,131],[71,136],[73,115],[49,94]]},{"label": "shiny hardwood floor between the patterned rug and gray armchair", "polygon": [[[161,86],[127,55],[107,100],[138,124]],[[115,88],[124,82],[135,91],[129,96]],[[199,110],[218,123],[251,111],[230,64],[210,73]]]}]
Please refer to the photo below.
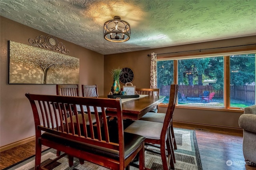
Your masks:
[{"label": "shiny hardwood floor between the patterned rug and gray armchair", "polygon": [[[242,129],[174,122],[174,127],[195,129],[203,170],[256,170],[245,164]],[[232,161],[228,166],[227,161]]]}]

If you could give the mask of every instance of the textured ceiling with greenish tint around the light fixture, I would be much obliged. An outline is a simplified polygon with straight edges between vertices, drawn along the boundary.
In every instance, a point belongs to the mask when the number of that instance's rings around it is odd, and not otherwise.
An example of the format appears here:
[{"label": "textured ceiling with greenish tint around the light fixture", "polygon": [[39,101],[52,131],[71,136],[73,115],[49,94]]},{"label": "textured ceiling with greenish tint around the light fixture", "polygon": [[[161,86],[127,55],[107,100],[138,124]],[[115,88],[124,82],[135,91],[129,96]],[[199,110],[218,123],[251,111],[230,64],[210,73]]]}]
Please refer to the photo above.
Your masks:
[{"label": "textured ceiling with greenish tint around the light fixture", "polygon": [[[104,55],[256,35],[256,0],[0,0],[0,15]],[[130,40],[104,39],[114,16]]]}]

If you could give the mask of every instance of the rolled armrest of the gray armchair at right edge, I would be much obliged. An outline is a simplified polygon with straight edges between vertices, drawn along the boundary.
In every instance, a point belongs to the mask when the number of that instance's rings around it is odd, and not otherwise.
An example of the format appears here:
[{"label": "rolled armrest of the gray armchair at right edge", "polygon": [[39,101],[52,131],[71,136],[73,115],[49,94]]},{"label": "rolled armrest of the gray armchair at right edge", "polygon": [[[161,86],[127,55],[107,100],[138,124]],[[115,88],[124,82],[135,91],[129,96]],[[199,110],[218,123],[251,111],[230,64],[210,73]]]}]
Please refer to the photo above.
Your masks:
[{"label": "rolled armrest of the gray armchair at right edge", "polygon": [[242,114],[238,123],[241,128],[256,133],[256,115]]}]

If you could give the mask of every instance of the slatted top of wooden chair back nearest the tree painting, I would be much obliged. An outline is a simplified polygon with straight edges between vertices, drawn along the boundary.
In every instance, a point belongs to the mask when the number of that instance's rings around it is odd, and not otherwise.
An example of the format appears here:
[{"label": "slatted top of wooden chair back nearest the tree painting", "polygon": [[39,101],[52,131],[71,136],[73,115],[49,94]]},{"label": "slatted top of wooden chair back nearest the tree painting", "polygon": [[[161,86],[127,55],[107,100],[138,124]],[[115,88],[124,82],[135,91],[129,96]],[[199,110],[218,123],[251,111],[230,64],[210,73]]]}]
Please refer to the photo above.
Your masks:
[{"label": "slatted top of wooden chair back nearest the tree painting", "polygon": [[78,84],[56,84],[56,94],[59,96],[80,96]]}]

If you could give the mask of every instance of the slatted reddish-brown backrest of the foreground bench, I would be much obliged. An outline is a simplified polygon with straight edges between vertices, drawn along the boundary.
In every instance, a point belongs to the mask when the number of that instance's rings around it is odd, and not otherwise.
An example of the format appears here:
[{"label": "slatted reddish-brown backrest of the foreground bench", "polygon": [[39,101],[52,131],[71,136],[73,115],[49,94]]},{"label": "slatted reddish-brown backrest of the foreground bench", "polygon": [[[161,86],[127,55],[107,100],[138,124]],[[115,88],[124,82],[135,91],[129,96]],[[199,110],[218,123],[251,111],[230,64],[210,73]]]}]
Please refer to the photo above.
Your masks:
[{"label": "slatted reddish-brown backrest of the foreground bench", "polygon": [[[120,99],[84,98],[74,96],[55,96],[26,94],[32,106],[34,123],[36,127],[36,139],[41,137],[42,131],[58,135],[60,137],[80,141],[90,145],[117,150],[120,160],[124,159],[124,127],[122,119],[122,104]],[[108,130],[106,107],[116,109],[118,140],[112,142]],[[96,117],[96,124],[92,123],[92,113]],[[88,121],[82,116],[82,123],[78,120],[79,112],[88,113]],[[68,115],[72,112],[70,123]],[[101,115],[100,115],[100,114]],[[102,120],[100,119],[102,117]],[[100,121],[103,121],[101,123]],[[80,122],[80,123],[76,123]],[[102,125],[102,127],[101,127]]]}]

